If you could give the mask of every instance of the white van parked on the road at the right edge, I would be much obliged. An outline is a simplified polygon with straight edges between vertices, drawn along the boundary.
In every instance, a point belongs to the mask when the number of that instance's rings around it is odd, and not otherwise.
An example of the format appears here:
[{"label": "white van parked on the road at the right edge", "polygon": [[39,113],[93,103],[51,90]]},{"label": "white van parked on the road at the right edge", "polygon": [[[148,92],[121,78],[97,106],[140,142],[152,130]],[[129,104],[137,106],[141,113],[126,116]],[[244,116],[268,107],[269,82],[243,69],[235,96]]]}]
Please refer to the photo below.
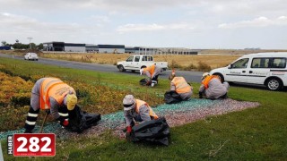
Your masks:
[{"label": "white van parked on the road at the right edge", "polygon": [[287,86],[287,52],[243,55],[227,67],[214,69],[222,81],[265,85],[267,89],[279,90]]}]

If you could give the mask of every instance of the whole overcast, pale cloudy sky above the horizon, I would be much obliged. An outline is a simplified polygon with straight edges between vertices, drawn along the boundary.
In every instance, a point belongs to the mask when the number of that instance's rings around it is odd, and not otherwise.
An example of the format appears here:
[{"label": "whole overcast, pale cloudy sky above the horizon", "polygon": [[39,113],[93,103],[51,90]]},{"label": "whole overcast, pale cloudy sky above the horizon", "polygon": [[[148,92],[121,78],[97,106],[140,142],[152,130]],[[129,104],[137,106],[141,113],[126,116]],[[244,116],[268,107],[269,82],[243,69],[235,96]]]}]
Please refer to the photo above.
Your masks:
[{"label": "whole overcast, pale cloudy sky above the horizon", "polygon": [[0,41],[287,49],[287,0],[0,0]]}]

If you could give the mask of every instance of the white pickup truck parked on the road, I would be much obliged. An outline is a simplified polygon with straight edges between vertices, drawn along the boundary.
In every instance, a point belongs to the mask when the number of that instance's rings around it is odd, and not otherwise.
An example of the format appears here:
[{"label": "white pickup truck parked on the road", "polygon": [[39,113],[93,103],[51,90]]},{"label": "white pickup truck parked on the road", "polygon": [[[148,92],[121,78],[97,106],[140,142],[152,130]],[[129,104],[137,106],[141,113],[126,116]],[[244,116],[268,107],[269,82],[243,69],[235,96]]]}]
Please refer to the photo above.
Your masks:
[{"label": "white pickup truck parked on the road", "polygon": [[130,70],[132,72],[139,71],[142,68],[156,64],[161,67],[161,72],[168,69],[167,62],[153,62],[152,55],[131,55],[126,61],[117,62],[117,69],[120,72]]}]

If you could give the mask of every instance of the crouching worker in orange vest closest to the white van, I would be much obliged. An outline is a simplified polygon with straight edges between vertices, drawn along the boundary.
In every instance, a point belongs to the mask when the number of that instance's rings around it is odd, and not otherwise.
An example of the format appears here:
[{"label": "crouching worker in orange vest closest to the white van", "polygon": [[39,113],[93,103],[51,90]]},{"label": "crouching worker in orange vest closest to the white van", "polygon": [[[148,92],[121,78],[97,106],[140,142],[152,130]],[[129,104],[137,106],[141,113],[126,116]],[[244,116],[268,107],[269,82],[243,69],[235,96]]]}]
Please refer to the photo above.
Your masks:
[{"label": "crouching worker in orange vest closest to the white van", "polygon": [[221,78],[217,75],[209,75],[208,72],[204,72],[199,88],[199,98],[203,98],[203,95],[209,99],[227,98],[229,87],[229,83],[222,83]]}]

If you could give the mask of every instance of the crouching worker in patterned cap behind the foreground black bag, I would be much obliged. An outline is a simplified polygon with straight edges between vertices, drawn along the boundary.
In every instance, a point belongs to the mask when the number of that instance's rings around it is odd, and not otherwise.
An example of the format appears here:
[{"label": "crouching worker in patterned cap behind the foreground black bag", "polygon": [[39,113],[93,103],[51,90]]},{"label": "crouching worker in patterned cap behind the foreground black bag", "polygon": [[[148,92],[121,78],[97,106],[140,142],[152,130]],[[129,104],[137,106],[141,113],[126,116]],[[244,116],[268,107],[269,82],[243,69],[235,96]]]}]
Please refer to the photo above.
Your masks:
[{"label": "crouching worker in patterned cap behind the foreground black bag", "polygon": [[132,127],[135,125],[135,122],[144,123],[159,118],[146,102],[140,99],[135,99],[133,95],[126,95],[123,99],[123,105],[126,120],[127,140],[131,135]]}]

